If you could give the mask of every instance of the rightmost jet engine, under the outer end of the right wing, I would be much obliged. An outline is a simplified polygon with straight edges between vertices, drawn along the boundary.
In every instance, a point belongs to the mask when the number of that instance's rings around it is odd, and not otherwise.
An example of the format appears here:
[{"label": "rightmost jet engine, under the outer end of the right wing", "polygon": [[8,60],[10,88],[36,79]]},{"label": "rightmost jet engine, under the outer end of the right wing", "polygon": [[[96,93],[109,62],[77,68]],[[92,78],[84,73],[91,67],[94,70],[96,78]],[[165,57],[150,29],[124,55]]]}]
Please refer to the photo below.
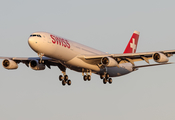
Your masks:
[{"label": "rightmost jet engine, under the outer end of the right wing", "polygon": [[158,63],[167,63],[169,61],[168,57],[163,53],[154,53],[153,60]]}]

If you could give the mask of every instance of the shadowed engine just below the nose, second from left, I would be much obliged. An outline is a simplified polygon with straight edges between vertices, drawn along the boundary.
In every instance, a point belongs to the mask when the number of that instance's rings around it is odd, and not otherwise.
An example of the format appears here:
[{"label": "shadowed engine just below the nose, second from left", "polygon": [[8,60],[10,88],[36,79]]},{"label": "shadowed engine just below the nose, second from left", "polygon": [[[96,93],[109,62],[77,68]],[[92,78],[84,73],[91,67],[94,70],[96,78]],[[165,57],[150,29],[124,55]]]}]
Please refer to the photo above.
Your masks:
[{"label": "shadowed engine just below the nose, second from left", "polygon": [[37,60],[30,61],[29,65],[33,70],[44,70],[45,69],[45,65],[40,64]]}]

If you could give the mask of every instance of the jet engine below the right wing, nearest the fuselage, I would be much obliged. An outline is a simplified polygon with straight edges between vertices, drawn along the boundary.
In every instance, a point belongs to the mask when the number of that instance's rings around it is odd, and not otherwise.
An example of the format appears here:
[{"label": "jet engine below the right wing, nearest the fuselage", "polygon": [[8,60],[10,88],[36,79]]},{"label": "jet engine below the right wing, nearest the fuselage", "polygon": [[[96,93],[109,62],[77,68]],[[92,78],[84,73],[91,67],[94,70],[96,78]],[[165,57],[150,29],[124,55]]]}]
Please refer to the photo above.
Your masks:
[{"label": "jet engine below the right wing, nearest the fuselage", "polygon": [[103,57],[101,59],[101,63],[107,67],[116,67],[116,66],[119,67],[117,61],[111,57]]}]

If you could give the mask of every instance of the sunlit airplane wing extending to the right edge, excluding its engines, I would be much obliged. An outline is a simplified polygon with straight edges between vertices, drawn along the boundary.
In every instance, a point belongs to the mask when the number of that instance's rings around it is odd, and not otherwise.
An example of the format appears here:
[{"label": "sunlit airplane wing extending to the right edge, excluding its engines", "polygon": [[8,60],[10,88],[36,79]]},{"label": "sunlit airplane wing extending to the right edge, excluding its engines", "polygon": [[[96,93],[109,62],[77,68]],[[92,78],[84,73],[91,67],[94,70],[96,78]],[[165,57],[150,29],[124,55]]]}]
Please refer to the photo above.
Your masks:
[{"label": "sunlit airplane wing extending to the right edge, excluding its engines", "polygon": [[154,59],[153,55],[155,53],[158,53],[159,55],[163,54],[163,56],[168,58],[171,57],[173,54],[175,54],[175,50],[143,52],[143,53],[127,53],[127,54],[82,55],[79,56],[79,58],[89,64],[100,64],[102,58],[110,57],[116,60],[118,64],[130,62],[134,65],[134,62],[136,61],[146,61],[149,64],[149,60]]}]

